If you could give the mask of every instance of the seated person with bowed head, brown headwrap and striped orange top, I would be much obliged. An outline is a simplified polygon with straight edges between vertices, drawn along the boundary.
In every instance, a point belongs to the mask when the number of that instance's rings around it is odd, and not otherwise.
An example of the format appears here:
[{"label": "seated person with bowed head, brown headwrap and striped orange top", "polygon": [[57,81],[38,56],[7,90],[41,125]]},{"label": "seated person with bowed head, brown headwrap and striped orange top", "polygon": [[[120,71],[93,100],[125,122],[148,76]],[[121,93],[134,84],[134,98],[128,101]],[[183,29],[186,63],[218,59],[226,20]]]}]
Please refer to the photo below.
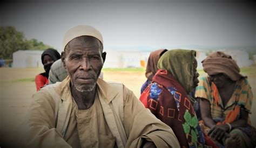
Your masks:
[{"label": "seated person with bowed head, brown headwrap and striped orange top", "polygon": [[211,53],[202,63],[208,76],[200,78],[195,96],[205,132],[227,147],[253,147],[255,129],[248,116],[253,95],[246,76],[223,52]]}]

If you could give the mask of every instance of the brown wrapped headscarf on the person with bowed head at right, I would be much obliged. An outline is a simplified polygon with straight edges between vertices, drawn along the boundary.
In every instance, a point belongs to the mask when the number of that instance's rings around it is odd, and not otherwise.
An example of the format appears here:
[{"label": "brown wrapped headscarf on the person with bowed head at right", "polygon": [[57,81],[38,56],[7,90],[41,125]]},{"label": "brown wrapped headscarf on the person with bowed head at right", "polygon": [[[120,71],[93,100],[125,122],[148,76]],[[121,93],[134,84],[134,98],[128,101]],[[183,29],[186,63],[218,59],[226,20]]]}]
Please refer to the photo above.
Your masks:
[{"label": "brown wrapped headscarf on the person with bowed head at right", "polygon": [[213,52],[201,62],[203,63],[204,71],[208,75],[223,73],[230,77],[232,81],[238,81],[241,77],[246,77],[239,73],[240,68],[235,60],[224,52]]}]

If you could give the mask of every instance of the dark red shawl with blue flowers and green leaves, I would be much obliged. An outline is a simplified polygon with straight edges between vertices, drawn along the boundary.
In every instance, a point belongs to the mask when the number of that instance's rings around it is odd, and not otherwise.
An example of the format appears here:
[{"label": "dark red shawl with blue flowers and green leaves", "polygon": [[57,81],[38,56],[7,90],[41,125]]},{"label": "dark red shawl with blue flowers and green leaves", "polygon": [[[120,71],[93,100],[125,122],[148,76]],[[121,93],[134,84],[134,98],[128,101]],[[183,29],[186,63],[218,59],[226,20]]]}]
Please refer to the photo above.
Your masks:
[{"label": "dark red shawl with blue flowers and green leaves", "polygon": [[152,82],[140,96],[140,101],[172,128],[180,147],[204,147],[205,144],[216,147],[201,131],[190,99],[181,84],[162,69],[153,77]]}]

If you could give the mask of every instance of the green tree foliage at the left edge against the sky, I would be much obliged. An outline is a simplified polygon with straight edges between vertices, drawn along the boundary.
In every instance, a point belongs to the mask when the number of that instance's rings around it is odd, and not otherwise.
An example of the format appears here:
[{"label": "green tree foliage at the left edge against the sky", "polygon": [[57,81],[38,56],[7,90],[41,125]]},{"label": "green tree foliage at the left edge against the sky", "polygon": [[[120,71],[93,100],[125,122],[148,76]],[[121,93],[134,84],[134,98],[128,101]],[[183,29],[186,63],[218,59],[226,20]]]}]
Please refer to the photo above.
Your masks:
[{"label": "green tree foliage at the left edge against the sky", "polygon": [[0,26],[0,58],[12,59],[12,53],[19,50],[46,50],[51,46],[36,39],[26,40],[23,32],[14,26]]}]

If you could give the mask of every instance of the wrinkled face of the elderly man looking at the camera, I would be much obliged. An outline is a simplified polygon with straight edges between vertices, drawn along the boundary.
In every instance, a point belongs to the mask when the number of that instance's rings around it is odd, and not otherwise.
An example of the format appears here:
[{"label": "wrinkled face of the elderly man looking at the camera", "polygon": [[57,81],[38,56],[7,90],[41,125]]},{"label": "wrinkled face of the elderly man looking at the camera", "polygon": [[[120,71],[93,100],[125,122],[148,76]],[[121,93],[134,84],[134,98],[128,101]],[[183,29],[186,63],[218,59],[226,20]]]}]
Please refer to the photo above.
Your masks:
[{"label": "wrinkled face of the elderly man looking at the camera", "polygon": [[105,60],[100,41],[89,36],[77,37],[66,49],[63,66],[70,76],[71,88],[81,92],[93,90]]}]

